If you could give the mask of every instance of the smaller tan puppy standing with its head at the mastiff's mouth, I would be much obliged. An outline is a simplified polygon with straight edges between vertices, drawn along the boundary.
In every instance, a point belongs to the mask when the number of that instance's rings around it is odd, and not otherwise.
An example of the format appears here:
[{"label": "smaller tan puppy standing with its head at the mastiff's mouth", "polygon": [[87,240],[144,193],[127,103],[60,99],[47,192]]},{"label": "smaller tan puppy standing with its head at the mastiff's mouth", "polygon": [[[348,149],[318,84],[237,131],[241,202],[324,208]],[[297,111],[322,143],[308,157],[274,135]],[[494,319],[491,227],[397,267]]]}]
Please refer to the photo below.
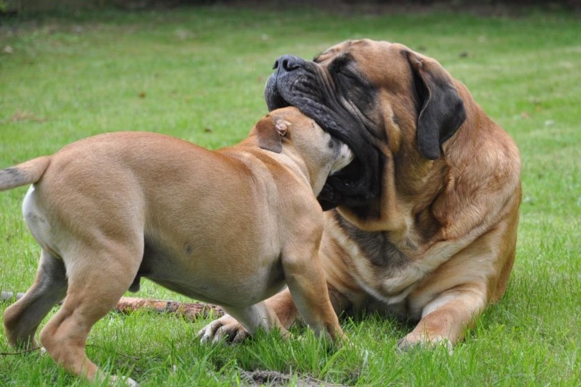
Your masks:
[{"label": "smaller tan puppy standing with its head at the mastiff's mouth", "polygon": [[[316,333],[341,338],[318,258],[316,195],[353,159],[295,108],[272,111],[231,148],[211,152],[162,134],[101,134],[0,171],[0,190],[33,184],[26,223],[42,247],[26,295],[3,315],[11,345],[36,346],[95,379],[91,326],[141,276],[217,303],[250,333],[278,328],[261,302],[285,283]],[[132,381],[130,381],[132,382]]]}]

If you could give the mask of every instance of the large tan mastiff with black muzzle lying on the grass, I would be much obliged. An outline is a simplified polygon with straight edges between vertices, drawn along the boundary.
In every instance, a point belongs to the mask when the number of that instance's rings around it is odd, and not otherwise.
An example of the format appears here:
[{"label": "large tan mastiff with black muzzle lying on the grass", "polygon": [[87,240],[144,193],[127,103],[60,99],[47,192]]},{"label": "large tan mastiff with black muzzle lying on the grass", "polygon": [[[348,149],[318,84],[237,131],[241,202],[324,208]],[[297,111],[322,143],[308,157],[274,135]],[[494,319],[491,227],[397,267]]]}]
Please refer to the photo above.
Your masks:
[{"label": "large tan mastiff with black muzzle lying on the grass", "polygon": [[[355,153],[319,198],[320,257],[337,313],[382,310],[417,325],[400,347],[455,343],[506,290],[515,256],[520,157],[467,88],[403,45],[354,40],[313,61],[282,56],[269,109],[298,106]],[[285,290],[267,301],[284,326]],[[230,317],[220,335],[240,335]]]}]

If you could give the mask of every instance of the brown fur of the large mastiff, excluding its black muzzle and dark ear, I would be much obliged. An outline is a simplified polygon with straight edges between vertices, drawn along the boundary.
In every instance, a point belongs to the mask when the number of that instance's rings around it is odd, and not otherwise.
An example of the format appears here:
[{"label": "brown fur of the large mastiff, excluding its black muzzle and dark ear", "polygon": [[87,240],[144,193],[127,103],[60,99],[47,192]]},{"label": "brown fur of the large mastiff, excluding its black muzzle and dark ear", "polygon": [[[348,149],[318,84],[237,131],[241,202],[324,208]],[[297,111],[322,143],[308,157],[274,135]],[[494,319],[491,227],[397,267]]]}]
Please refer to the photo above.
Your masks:
[{"label": "brown fur of the large mastiff, excluding its black muzzle and dark ear", "polygon": [[[506,290],[515,256],[520,157],[512,139],[442,66],[403,45],[343,42],[315,60],[322,76],[349,54],[379,89],[374,113],[387,143],[381,195],[325,212],[320,257],[337,313],[371,307],[418,322],[400,342],[455,343]],[[466,118],[427,159],[418,149],[414,77],[456,89]],[[353,134],[357,136],[357,134]],[[266,301],[288,326],[298,317],[288,291]],[[226,330],[240,330],[232,319]],[[239,333],[240,334],[240,333]]]}]

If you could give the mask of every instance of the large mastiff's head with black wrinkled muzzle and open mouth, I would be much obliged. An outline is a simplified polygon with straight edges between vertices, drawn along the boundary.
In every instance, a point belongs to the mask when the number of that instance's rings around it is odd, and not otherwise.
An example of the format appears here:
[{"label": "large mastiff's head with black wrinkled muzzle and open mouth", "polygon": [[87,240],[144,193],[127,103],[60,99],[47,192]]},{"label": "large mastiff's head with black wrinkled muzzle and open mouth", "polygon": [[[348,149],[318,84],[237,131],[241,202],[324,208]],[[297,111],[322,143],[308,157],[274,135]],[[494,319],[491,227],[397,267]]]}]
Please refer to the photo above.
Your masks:
[{"label": "large mastiff's head with black wrinkled muzzle and open mouth", "polygon": [[437,61],[373,40],[343,42],[313,61],[281,56],[265,100],[269,110],[297,106],[355,153],[348,168],[327,180],[318,198],[324,209],[373,202],[400,148],[437,159],[465,120],[458,91]]}]

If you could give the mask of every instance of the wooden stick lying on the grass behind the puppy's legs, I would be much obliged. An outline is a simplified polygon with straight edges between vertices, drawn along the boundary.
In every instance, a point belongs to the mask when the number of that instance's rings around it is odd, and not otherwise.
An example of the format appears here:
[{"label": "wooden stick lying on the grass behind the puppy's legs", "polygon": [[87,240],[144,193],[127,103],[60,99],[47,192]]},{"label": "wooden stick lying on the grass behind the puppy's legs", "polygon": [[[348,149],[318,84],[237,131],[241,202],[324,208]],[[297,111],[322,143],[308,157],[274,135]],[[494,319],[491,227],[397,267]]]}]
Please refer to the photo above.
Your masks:
[{"label": "wooden stick lying on the grass behind the puppy's legs", "polygon": [[[21,299],[24,293],[0,292],[0,301],[7,301],[12,303]],[[198,317],[208,317],[210,312],[215,316],[224,315],[224,311],[217,305],[210,303],[187,303],[178,301],[165,301],[157,299],[141,299],[137,297],[121,297],[117,306],[114,308],[120,313],[131,313],[134,310],[147,309],[154,310],[158,313],[175,313],[187,317],[188,319],[196,319]]]}]

